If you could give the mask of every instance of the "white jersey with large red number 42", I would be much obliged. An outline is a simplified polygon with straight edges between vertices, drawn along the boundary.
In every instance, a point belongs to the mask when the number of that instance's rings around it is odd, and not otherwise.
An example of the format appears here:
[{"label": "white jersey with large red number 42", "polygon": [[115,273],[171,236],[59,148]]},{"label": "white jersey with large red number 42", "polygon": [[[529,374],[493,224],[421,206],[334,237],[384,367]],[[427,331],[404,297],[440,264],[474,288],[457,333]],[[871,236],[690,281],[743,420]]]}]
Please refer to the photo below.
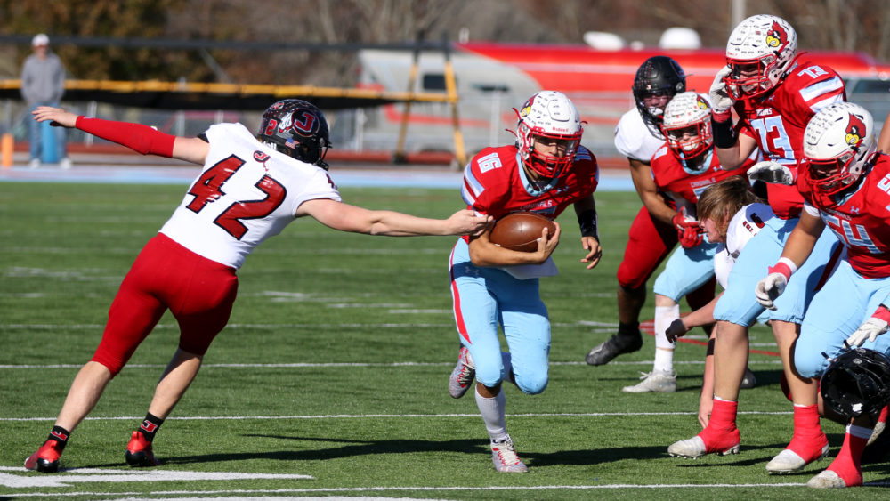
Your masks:
[{"label": "white jersey with large red number 42", "polygon": [[204,170],[160,230],[198,255],[238,269],[304,201],[341,200],[324,169],[265,146],[244,125],[212,125],[206,137]]}]

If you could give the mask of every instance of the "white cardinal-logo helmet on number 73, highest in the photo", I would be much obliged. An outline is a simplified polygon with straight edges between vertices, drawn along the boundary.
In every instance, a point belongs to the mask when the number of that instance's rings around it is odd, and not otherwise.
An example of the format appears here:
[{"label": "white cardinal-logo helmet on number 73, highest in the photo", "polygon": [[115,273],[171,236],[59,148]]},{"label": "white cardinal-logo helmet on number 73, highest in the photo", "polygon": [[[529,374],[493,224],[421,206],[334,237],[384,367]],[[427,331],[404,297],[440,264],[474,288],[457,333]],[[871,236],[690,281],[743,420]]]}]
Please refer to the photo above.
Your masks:
[{"label": "white cardinal-logo helmet on number 73, highest in the photo", "polygon": [[775,87],[797,57],[797,33],[788,21],[758,14],[739,23],[726,43],[726,88],[736,100]]}]

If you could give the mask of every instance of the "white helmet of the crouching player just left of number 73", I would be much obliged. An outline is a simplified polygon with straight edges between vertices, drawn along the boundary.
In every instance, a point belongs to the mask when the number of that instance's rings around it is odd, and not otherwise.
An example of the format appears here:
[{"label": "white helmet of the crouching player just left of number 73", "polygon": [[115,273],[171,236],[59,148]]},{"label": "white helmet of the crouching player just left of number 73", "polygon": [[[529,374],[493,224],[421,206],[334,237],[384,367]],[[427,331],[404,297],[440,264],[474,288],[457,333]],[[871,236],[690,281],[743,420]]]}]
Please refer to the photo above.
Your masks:
[{"label": "white helmet of the crouching player just left of number 73", "polygon": [[667,103],[661,131],[676,158],[694,158],[708,151],[714,144],[708,100],[693,92],[676,94]]}]

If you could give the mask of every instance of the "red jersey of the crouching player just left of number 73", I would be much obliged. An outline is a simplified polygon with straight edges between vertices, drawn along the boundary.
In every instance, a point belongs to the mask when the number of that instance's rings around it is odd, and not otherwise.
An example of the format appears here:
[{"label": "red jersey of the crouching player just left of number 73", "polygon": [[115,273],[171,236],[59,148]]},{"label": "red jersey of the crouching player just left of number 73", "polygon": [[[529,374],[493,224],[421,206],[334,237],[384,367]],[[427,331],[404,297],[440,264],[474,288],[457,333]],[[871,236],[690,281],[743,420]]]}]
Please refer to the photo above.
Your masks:
[{"label": "red jersey of the crouching player just left of number 73", "polygon": [[742,164],[742,169],[724,171],[720,167],[720,160],[711,150],[708,153],[710,161],[708,166],[700,171],[692,171],[677,159],[665,143],[655,155],[652,156],[652,175],[659,191],[666,193],[674,200],[677,210],[686,207],[686,214],[695,216],[695,204],[699,201],[699,195],[705,188],[718,181],[723,181],[733,175],[742,175],[747,178],[748,167],[754,165],[750,158]]}]

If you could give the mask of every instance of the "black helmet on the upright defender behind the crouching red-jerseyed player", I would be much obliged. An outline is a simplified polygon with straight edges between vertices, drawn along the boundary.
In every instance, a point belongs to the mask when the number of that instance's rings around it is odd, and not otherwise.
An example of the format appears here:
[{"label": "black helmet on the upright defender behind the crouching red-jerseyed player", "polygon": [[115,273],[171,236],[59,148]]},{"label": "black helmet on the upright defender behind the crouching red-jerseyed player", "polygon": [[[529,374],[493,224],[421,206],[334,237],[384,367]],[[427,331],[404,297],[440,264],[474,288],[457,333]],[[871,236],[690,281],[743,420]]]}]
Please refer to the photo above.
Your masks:
[{"label": "black helmet on the upright defender behind the crouching red-jerseyed player", "polygon": [[677,93],[686,92],[686,74],[680,68],[680,64],[667,56],[652,56],[643,61],[636,70],[633,91],[636,109],[640,111],[640,116],[643,117],[649,132],[663,139],[661,120],[664,117],[664,107],[646,106],[644,100],[647,97],[663,95],[667,95],[669,100]]}]

